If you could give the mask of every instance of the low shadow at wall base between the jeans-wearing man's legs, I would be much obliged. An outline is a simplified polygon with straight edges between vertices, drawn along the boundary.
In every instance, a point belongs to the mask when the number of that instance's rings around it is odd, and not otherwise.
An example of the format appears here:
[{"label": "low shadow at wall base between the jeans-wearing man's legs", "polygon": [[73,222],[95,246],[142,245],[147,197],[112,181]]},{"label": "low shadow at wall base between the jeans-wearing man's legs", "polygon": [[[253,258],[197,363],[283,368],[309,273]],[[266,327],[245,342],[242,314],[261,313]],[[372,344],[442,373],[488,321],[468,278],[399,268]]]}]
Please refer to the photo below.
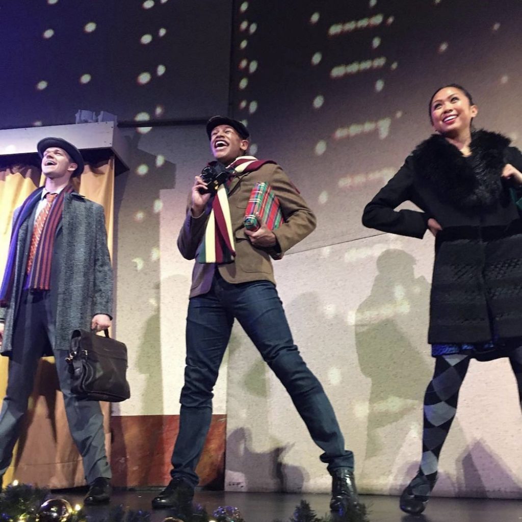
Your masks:
[{"label": "low shadow at wall base between the jeans-wearing man's legs", "polygon": [[[248,477],[248,473],[255,470],[255,474],[263,473],[268,481],[276,484],[270,491],[299,492],[308,479],[307,474],[298,466],[284,464],[284,455],[293,444],[277,446],[268,452],[257,453],[251,450],[251,431],[246,428],[234,430],[227,438],[227,452],[232,451],[241,462],[241,469],[227,469],[229,477]],[[241,482],[227,484],[228,487],[238,487],[244,491],[255,491],[249,487],[248,479]]]}]

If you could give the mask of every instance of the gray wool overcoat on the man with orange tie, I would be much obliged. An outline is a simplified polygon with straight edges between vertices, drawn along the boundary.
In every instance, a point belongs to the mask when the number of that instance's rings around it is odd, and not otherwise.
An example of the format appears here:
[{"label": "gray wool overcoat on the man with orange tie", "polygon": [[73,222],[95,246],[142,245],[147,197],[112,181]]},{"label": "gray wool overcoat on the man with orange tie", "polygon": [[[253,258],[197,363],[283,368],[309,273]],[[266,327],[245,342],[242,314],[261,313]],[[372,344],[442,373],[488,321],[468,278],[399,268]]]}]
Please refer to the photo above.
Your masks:
[{"label": "gray wool overcoat on the man with orange tie", "polygon": [[[5,322],[0,349],[2,355],[9,356],[13,350],[13,329],[27,266],[33,219],[34,212],[20,226],[13,291],[7,306],[0,307],[0,321]],[[69,348],[74,329],[90,330],[94,315],[106,314],[112,318],[113,273],[103,207],[76,192],[65,195],[63,219],[56,231],[53,248],[51,286],[55,302],[56,350]]]}]

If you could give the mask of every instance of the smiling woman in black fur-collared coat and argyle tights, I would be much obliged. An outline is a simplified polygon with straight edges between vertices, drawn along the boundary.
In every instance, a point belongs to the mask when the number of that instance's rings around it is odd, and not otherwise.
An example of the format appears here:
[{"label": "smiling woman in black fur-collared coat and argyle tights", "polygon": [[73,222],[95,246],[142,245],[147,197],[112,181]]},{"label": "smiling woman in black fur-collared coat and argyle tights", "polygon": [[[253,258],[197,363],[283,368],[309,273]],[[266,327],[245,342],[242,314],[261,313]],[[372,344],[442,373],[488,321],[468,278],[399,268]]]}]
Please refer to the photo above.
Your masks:
[{"label": "smiling woman in black fur-collared coat and argyle tights", "polygon": [[[508,138],[474,131],[471,94],[457,84],[429,103],[436,134],[423,141],[366,205],[363,224],[436,237],[428,341],[435,371],[424,396],[422,459],[402,492],[406,513],[424,511],[471,358],[507,357],[522,401],[522,154]],[[515,195],[515,197],[513,197]],[[395,210],[412,201],[420,211]]]}]

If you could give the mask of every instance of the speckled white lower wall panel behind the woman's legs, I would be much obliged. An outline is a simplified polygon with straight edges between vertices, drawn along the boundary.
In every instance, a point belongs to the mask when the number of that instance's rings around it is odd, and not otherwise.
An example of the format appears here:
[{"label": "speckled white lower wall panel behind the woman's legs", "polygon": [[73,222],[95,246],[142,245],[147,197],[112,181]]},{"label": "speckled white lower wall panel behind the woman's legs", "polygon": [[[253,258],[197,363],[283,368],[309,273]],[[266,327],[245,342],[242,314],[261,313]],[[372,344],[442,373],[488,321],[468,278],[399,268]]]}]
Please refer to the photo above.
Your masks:
[{"label": "speckled white lower wall panel behind the woman's legs", "polygon": [[[397,494],[421,454],[433,240],[379,234],[287,255],[278,290],[326,389],[363,492]],[[441,458],[438,495],[511,497],[522,485],[518,395],[507,361],[472,362]],[[330,479],[284,388],[237,332],[228,381],[226,487],[326,492]]]}]

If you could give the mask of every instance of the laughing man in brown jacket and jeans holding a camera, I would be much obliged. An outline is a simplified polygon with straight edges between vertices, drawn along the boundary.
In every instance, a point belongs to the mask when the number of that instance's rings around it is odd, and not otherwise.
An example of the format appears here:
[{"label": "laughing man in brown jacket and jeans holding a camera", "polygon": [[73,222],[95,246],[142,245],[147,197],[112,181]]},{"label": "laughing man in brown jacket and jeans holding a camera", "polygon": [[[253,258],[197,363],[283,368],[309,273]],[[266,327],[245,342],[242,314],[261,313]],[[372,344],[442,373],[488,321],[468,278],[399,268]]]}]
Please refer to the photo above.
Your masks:
[{"label": "laughing man in brown jacket and jeans holding a camera", "polygon": [[[207,123],[218,171],[227,168],[226,192],[206,192],[195,176],[187,215],[177,239],[183,257],[195,259],[186,325],[185,383],[180,431],[172,454],[172,480],[152,500],[156,508],[187,511],[198,483],[195,472],[212,416],[212,388],[234,318],[286,387],[333,477],[330,507],[360,512],[353,479],[353,454],[345,449],[334,410],[321,383],[294,345],[279,300],[270,257],[280,259],[315,228],[315,216],[274,161],[245,156],[249,133],[239,121],[215,116]],[[244,226],[252,189],[267,183],[279,199],[284,222],[270,230]],[[258,216],[258,219],[260,216]],[[224,224],[223,224],[224,223]],[[356,517],[357,518],[357,517]]]}]

